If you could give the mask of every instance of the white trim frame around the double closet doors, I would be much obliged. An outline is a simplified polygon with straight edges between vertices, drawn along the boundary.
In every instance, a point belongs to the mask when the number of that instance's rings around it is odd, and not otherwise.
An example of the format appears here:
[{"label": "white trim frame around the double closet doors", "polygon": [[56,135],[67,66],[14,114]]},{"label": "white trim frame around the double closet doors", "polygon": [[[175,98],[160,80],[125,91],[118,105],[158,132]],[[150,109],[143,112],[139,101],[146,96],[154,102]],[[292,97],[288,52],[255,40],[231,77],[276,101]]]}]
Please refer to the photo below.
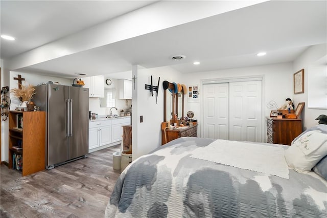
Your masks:
[{"label": "white trim frame around the double closet doors", "polygon": [[[212,79],[201,79],[200,80],[201,83],[200,83],[200,87],[199,89],[200,90],[203,90],[203,85],[205,84],[213,84],[213,83],[229,83],[229,82],[243,82],[243,81],[262,81],[261,84],[261,88],[262,88],[262,105],[261,105],[261,112],[262,112],[262,115],[261,115],[261,128],[262,128],[262,132],[261,132],[261,142],[265,142],[266,140],[266,136],[265,136],[265,133],[266,133],[266,127],[265,127],[265,75],[255,75],[255,76],[244,76],[244,77],[226,77],[226,78],[212,78]],[[204,98],[201,98],[200,99],[200,113],[201,113],[201,120],[203,121],[204,120],[204,117],[203,117],[203,106],[204,106],[204,103],[203,103],[203,99]],[[204,125],[200,123],[200,129],[201,129],[201,137],[203,137],[203,131],[204,131]]]}]

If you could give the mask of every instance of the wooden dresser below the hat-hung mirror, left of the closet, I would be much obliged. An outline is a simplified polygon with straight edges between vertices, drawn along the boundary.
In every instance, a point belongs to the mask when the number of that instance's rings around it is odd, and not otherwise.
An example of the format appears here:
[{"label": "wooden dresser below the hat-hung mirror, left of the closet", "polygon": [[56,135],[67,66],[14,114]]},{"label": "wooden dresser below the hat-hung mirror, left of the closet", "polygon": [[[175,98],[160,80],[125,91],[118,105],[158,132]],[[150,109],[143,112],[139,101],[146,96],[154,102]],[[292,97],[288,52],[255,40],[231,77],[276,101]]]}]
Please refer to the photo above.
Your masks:
[{"label": "wooden dresser below the hat-hung mirror, left of the closet", "polygon": [[[198,137],[198,124],[188,128],[166,129],[167,142],[180,137]],[[161,129],[161,144],[166,144],[165,129]]]}]

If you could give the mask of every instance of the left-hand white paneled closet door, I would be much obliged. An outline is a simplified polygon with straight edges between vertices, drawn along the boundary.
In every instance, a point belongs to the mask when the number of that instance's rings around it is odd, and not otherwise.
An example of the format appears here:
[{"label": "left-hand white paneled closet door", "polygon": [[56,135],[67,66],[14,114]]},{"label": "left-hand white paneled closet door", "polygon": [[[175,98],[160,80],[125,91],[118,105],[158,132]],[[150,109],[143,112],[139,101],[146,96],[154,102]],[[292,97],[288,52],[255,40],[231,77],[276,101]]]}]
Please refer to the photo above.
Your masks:
[{"label": "left-hand white paneled closet door", "polygon": [[228,83],[203,85],[203,137],[228,140]]}]

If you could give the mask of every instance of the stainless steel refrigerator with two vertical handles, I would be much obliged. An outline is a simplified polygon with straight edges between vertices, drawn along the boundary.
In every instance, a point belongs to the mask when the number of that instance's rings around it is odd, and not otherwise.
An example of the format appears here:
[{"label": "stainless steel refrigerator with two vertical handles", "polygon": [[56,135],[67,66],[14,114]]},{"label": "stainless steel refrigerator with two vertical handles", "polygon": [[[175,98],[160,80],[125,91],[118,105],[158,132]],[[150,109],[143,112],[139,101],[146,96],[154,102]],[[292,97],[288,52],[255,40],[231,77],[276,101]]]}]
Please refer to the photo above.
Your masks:
[{"label": "stainless steel refrigerator with two vertical handles", "polygon": [[48,84],[35,86],[33,96],[40,111],[46,111],[45,168],[88,155],[87,88]]}]

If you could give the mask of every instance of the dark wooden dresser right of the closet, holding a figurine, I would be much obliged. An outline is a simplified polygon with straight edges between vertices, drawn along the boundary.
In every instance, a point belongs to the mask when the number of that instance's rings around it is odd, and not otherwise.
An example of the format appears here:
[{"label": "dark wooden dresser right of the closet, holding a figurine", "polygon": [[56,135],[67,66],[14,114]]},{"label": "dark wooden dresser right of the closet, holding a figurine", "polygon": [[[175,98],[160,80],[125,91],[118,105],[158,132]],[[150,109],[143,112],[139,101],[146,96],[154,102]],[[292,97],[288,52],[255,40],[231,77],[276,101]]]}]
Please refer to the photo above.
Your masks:
[{"label": "dark wooden dresser right of the closet, holding a figurine", "polygon": [[277,119],[267,117],[268,143],[291,145],[302,133],[301,119]]}]

